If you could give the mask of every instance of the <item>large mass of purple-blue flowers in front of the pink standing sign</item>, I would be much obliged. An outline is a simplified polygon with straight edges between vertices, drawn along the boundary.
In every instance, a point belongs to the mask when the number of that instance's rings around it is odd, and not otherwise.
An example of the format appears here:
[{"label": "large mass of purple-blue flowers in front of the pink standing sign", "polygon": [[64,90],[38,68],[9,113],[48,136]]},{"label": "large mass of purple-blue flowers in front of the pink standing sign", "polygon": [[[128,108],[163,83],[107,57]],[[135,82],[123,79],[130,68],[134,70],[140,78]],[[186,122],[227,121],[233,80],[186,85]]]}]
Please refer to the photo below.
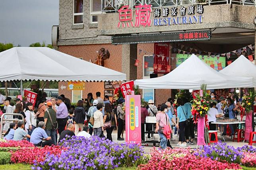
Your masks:
[{"label": "large mass of purple-blue flowers in front of the pink standing sign", "polygon": [[45,161],[35,162],[33,169],[48,170],[110,170],[119,166],[138,166],[143,150],[135,144],[116,143],[98,137],[74,136],[61,144],[67,147],[60,155],[47,155]]}]

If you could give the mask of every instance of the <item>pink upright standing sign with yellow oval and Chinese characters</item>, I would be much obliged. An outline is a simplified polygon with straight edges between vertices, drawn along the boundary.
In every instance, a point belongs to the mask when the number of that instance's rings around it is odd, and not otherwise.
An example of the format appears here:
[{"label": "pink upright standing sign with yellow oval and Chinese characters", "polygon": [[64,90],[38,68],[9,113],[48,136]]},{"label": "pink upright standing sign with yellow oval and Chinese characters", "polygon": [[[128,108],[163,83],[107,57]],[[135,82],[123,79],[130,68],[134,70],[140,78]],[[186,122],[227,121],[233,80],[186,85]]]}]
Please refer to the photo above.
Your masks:
[{"label": "pink upright standing sign with yellow oval and Chinese characters", "polygon": [[140,95],[125,96],[125,141],[141,145]]}]

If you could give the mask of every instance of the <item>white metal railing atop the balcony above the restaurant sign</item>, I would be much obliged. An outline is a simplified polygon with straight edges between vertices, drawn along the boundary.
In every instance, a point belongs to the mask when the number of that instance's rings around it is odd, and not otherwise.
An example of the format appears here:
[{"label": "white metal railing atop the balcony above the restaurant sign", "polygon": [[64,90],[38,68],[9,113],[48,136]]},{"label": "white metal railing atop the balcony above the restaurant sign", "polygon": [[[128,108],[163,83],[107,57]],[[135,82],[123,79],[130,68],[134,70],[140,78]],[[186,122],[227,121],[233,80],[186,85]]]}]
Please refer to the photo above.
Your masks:
[{"label": "white metal railing atop the balcony above the restaurant sign", "polygon": [[103,12],[117,12],[121,6],[129,6],[135,9],[139,4],[151,4],[153,8],[176,7],[182,5],[218,5],[237,4],[255,6],[256,0],[101,0]]}]

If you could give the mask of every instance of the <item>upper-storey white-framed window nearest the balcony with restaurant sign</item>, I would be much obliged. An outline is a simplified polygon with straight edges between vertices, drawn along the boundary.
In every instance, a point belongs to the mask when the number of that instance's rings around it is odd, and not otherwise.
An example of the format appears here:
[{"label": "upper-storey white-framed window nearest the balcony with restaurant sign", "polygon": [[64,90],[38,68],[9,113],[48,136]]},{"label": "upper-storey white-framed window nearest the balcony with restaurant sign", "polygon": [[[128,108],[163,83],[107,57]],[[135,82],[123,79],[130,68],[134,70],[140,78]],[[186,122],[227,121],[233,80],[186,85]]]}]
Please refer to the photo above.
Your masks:
[{"label": "upper-storey white-framed window nearest the balcony with restaurant sign", "polygon": [[101,0],[91,0],[90,23],[98,23],[99,14],[101,14]]}]

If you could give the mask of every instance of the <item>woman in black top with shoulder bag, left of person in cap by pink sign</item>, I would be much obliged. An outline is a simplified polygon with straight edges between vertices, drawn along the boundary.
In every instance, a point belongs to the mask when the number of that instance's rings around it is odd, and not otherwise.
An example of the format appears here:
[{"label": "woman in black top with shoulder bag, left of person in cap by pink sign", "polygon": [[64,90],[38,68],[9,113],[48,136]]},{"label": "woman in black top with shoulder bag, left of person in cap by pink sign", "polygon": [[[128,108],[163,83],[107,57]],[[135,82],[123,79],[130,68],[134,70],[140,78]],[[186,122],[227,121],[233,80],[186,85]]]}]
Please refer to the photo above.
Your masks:
[{"label": "woman in black top with shoulder bag, left of person in cap by pink sign", "polygon": [[107,139],[112,140],[112,132],[115,126],[115,123],[117,124],[116,115],[114,114],[112,110],[112,106],[110,103],[105,103],[105,115],[103,118],[104,128],[107,131]]}]

